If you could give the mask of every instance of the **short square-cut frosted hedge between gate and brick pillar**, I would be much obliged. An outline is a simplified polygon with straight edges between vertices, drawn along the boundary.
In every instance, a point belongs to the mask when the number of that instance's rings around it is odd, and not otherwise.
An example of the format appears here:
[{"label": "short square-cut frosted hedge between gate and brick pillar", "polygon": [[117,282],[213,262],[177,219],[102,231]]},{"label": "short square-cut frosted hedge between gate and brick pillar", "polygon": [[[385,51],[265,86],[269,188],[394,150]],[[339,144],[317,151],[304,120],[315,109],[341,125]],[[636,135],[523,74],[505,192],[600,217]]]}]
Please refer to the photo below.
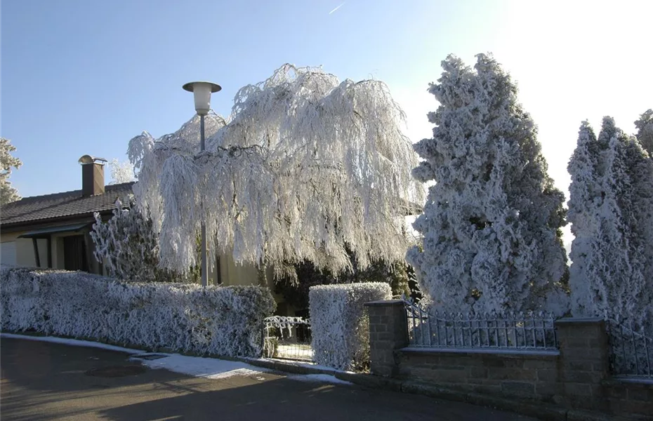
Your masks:
[{"label": "short square-cut frosted hedge between gate and brick pillar", "polygon": [[390,300],[388,283],[312,286],[308,293],[315,362],[338,370],[369,364],[369,323],[363,305]]}]

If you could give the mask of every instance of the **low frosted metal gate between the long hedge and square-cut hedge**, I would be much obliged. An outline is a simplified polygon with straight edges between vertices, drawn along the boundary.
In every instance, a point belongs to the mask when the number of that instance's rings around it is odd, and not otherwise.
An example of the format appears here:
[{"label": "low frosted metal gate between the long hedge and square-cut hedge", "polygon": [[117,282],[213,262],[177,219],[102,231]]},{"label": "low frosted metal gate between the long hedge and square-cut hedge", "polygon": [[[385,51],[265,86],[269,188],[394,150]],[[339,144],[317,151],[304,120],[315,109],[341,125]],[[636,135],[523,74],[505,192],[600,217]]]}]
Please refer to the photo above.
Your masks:
[{"label": "low frosted metal gate between the long hedge and square-cut hedge", "polygon": [[263,356],[312,361],[310,321],[302,317],[271,316],[263,319]]}]

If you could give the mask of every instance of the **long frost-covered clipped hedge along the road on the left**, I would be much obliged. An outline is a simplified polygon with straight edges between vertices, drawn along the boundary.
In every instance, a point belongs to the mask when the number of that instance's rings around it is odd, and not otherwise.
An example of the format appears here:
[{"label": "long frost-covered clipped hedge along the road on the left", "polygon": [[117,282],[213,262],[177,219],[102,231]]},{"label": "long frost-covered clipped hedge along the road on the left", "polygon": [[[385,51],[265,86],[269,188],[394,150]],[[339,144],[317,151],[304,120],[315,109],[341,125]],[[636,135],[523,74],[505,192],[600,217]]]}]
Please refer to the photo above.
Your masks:
[{"label": "long frost-covered clipped hedge along the road on the left", "polygon": [[258,286],[123,283],[84,272],[0,266],[0,329],[145,349],[259,356],[275,301]]}]

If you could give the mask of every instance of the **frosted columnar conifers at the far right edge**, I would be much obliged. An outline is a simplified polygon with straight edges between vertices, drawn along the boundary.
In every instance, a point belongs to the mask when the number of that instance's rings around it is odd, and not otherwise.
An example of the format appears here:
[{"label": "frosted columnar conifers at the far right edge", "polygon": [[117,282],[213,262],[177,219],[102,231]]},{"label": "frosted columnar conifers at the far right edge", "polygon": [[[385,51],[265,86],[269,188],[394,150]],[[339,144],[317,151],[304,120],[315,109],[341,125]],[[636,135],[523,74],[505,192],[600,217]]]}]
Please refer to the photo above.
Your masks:
[{"label": "frosted columnar conifers at the far right edge", "polygon": [[583,122],[569,161],[572,312],[653,324],[653,161],[603,119]]}]

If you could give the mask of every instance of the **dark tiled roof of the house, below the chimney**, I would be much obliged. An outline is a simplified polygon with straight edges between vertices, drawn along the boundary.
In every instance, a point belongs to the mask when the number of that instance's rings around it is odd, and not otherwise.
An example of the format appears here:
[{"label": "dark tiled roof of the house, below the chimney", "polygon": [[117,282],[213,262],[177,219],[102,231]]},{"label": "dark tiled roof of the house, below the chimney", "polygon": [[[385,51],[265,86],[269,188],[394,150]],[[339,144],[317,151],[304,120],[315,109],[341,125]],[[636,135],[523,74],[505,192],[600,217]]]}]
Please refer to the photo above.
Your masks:
[{"label": "dark tiled roof of the house, below the chimney", "polygon": [[118,199],[128,203],[133,182],[107,185],[104,194],[82,196],[81,190],[25,197],[0,206],[0,228],[29,225],[50,220],[70,219],[112,210]]}]

